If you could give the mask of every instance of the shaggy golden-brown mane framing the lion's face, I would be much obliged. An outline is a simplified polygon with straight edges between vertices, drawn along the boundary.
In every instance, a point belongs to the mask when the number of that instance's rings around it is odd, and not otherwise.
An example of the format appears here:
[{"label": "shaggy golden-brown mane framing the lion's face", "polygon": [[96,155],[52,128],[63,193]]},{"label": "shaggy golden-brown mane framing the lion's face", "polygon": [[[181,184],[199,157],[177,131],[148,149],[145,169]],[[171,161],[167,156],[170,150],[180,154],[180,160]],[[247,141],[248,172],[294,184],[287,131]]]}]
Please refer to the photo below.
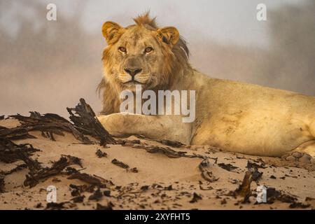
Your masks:
[{"label": "shaggy golden-brown mane framing the lion's face", "polygon": [[[131,25],[129,27],[144,26],[147,29],[159,29],[157,23],[155,22],[155,18],[150,18],[149,13],[139,15],[137,18],[134,18],[134,22],[135,25]],[[164,66],[164,72],[161,74],[160,78],[160,83],[163,84],[158,85],[157,88],[158,90],[168,90],[172,85],[174,85],[174,83],[176,83],[176,78],[179,78],[179,73],[181,73],[181,71],[186,72],[188,69],[192,69],[188,62],[190,52],[187,43],[182,36],[179,37],[179,41],[177,41],[177,43],[173,46],[172,50],[165,48],[162,44],[160,44],[160,48],[162,49],[163,56],[165,57],[165,62],[160,64],[160,66]],[[105,49],[102,58],[104,66],[111,66],[111,63],[109,63],[111,62],[111,57],[112,55],[109,53],[109,50]],[[165,83],[167,84],[165,85]],[[111,83],[106,80],[105,76],[99,83],[97,92],[99,92],[99,94],[102,92],[103,109],[101,114],[107,115],[119,112],[120,92],[115,86],[111,85]]]}]

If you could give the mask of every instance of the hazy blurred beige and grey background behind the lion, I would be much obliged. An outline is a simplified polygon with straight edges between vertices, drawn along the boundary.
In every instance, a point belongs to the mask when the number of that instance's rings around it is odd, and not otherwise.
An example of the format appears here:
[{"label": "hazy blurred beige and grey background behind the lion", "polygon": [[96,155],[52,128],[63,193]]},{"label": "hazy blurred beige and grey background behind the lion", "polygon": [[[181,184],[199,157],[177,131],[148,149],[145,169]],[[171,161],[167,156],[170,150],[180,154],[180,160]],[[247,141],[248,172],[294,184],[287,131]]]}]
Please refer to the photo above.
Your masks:
[{"label": "hazy blurred beige and grey background behind the lion", "polygon": [[[48,3],[57,21],[46,20]],[[315,95],[315,0],[0,0],[0,115],[68,117],[80,97],[99,111],[102,24],[131,25],[146,10],[179,29],[203,73]]]}]

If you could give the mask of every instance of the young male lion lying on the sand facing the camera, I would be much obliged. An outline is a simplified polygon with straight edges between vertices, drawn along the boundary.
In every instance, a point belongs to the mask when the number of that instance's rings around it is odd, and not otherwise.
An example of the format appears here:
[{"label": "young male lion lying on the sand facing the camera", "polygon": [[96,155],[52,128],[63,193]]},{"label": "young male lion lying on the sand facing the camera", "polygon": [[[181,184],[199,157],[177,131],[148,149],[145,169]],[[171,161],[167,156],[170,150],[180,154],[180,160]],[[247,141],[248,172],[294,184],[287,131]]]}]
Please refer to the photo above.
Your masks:
[{"label": "young male lion lying on the sand facing the camera", "polygon": [[[108,45],[102,59],[99,89],[104,90],[104,99],[98,118],[113,136],[141,134],[251,155],[289,153],[291,160],[307,162],[309,155],[314,158],[315,97],[209,78],[190,66],[186,42],[176,28],[159,28],[148,14],[134,22],[125,28],[115,22],[102,27]],[[120,113],[120,92],[134,92],[136,84],[155,92],[195,90],[195,121]]]}]

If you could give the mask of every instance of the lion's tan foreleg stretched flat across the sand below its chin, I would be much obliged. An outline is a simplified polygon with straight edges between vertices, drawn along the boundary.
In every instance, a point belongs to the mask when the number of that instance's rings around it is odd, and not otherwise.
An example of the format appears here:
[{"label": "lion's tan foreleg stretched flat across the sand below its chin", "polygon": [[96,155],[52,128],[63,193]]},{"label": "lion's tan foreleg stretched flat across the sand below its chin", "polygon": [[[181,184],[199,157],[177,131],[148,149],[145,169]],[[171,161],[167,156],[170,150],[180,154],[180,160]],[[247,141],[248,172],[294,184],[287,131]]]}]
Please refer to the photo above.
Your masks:
[{"label": "lion's tan foreleg stretched flat across the sand below its chin", "polygon": [[169,139],[190,144],[191,124],[183,123],[181,116],[144,116],[113,113],[98,116],[106,130],[115,137],[141,134],[150,139]]}]

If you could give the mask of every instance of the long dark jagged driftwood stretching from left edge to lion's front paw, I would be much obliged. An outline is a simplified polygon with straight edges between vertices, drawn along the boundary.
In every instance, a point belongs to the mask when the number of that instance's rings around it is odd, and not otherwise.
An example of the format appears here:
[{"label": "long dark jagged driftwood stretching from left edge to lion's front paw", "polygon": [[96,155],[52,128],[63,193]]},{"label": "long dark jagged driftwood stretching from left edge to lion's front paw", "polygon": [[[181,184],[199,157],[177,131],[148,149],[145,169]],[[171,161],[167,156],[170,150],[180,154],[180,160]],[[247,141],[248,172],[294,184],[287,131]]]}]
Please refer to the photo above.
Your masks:
[{"label": "long dark jagged driftwood stretching from left edge to lion's front paw", "polygon": [[[67,108],[70,114],[69,120],[62,118],[54,113],[46,113],[41,115],[38,112],[30,112],[31,115],[21,116],[20,114],[8,116],[20,121],[18,127],[7,128],[0,126],[0,138],[5,139],[30,139],[36,138],[29,134],[31,131],[41,132],[43,137],[55,141],[54,135],[64,136],[63,132],[70,132],[73,136],[83,144],[92,144],[93,142],[85,137],[85,134],[90,135],[101,141],[101,145],[116,144],[115,139],[107,132],[84,99],[80,99],[80,103],[75,108]],[[4,116],[1,116],[3,119]]]}]

